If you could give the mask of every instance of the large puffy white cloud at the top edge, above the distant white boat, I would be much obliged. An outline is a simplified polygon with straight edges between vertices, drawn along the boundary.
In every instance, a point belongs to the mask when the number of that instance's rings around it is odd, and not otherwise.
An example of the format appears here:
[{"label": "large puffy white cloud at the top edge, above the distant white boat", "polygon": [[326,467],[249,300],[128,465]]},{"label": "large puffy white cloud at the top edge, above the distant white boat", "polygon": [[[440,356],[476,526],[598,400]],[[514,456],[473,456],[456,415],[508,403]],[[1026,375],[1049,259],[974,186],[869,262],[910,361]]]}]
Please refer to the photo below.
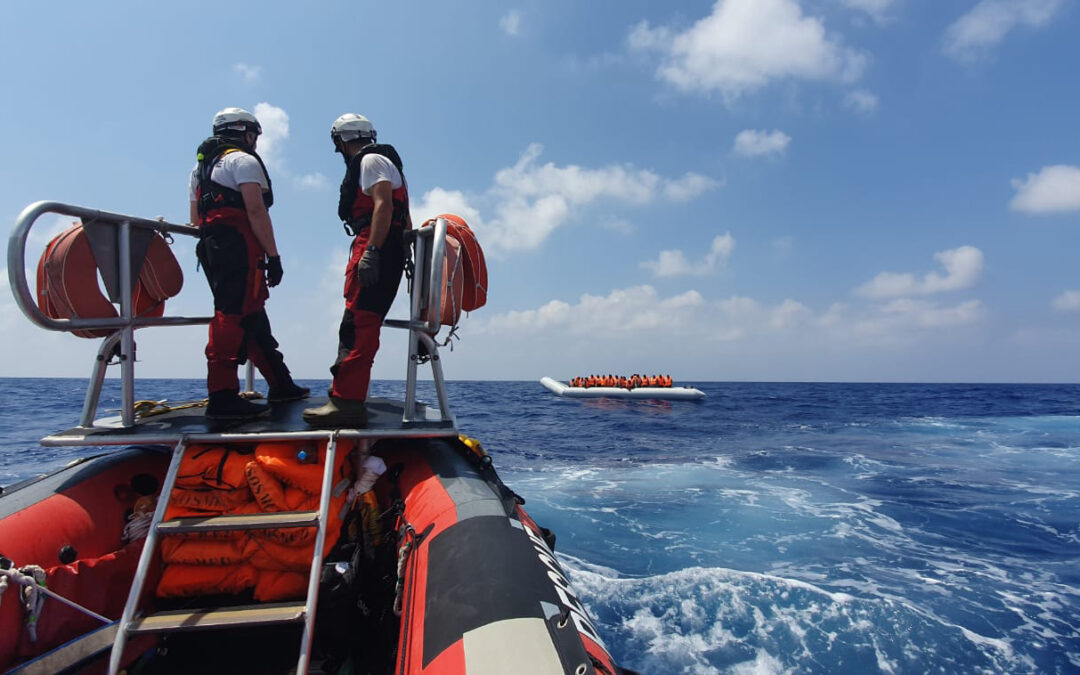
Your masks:
[{"label": "large puffy white cloud at the top edge, above the distant white boat", "polygon": [[713,12],[683,32],[642,22],[630,48],[661,55],[660,79],[684,92],[719,92],[728,99],[774,80],[856,80],[866,56],[827,36],[821,19],[796,0],[717,0]]}]

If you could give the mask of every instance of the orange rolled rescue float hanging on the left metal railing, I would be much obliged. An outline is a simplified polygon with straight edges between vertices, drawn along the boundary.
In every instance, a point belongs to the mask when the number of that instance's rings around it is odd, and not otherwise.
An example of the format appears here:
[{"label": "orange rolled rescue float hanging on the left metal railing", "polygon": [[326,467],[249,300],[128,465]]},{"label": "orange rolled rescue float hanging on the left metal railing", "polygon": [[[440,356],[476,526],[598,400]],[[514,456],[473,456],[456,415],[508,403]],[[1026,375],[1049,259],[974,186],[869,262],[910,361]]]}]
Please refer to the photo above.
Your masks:
[{"label": "orange rolled rescue float hanging on the left metal railing", "polygon": [[[165,299],[180,292],[184,271],[160,234],[150,238],[138,276],[132,280],[132,312],[161,316]],[[98,286],[98,266],[81,222],[57,234],[38,261],[38,307],[51,319],[112,319],[116,306]],[[79,337],[106,337],[116,329],[72,330]]]}]

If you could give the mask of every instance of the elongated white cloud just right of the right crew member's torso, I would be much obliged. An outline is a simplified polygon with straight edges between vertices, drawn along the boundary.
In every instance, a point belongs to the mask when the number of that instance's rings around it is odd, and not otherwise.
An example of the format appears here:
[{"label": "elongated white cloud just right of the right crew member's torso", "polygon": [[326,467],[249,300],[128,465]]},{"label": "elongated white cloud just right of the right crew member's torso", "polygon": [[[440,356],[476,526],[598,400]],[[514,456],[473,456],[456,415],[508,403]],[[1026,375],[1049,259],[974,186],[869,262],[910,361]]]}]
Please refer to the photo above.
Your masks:
[{"label": "elongated white cloud just right of the right crew member's torso", "polygon": [[[719,185],[692,172],[671,179],[629,164],[599,168],[541,164],[542,151],[540,144],[531,144],[513,166],[496,172],[492,186],[475,198],[444,188],[427,192],[413,210],[414,220],[456,213],[476,230],[485,249],[521,251],[536,248],[571,214],[598,202],[640,206],[658,199],[685,201]],[[482,217],[477,201],[490,204],[494,215]]]}]

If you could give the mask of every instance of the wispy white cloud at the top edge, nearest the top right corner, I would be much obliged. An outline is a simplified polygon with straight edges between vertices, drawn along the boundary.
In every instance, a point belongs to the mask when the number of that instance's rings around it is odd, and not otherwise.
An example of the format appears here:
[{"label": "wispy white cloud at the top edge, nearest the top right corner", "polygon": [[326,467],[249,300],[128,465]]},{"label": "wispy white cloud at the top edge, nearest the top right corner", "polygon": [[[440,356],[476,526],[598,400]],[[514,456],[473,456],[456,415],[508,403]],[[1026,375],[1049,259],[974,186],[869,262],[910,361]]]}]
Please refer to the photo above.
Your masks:
[{"label": "wispy white cloud at the top edge, nearest the top right corner", "polygon": [[1061,5],[1062,0],[981,0],[945,31],[945,53],[977,60],[1017,26],[1045,26]]}]

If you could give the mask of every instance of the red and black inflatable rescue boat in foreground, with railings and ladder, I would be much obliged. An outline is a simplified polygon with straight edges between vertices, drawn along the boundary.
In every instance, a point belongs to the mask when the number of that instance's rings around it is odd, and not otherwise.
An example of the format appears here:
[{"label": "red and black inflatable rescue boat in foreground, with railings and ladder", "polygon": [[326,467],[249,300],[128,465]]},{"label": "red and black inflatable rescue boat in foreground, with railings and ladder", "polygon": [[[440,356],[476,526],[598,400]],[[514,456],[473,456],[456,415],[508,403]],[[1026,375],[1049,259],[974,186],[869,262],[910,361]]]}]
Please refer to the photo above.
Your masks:
[{"label": "red and black inflatable rescue boat in foreground, with railings and ladder", "polygon": [[[117,282],[118,313],[86,315],[76,300],[58,318],[33,301],[25,243],[45,213],[81,218],[106,242],[94,260]],[[364,429],[316,430],[301,411],[319,399],[230,422],[198,403],[136,405],[135,328],[208,318],[137,313],[143,260],[131,252],[197,230],[28,206],[9,244],[16,302],[42,327],[105,335],[80,423],[41,443],[103,453],[0,494],[0,671],[627,673],[571,589],[554,535],[449,410],[441,313],[428,309],[447,287],[446,232],[438,218],[410,235],[410,319],[387,322],[408,335],[404,401],[368,400]],[[97,419],[116,352],[123,406]],[[422,364],[437,405],[416,399]]]}]

